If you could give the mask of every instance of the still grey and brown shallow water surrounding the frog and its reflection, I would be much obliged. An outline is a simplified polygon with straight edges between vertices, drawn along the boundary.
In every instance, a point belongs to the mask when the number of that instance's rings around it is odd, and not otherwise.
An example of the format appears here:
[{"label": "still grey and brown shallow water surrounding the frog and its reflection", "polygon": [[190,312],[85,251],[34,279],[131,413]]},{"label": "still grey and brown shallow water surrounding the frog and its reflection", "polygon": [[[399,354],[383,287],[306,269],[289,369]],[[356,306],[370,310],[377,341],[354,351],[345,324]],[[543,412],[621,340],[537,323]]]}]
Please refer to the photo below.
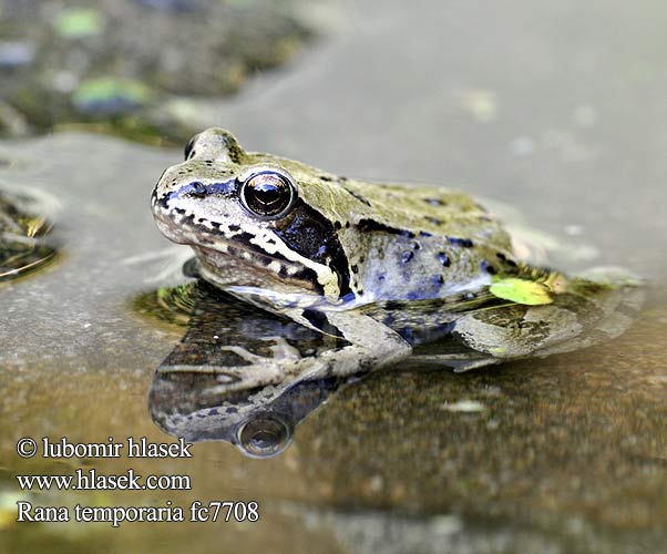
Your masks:
[{"label": "still grey and brown shallow water surrounding the frog and its reflection", "polygon": [[[577,248],[568,269],[619,264],[647,277],[636,324],[610,343],[546,360],[371,375],[270,460],[212,442],[188,460],[84,465],[188,474],[192,491],[25,495],[44,505],[255,500],[256,524],[13,523],[17,473],[81,466],[21,460],[19,438],[171,440],[152,423],[147,393],[183,329],[136,314],[133,298],[155,288],[157,266],[127,259],[168,245],[148,195],[181,153],[76,134],[0,144],[11,161],[0,182],[61,199],[64,245],[57,264],[0,286],[0,550],[660,552],[667,10],[367,4],[376,17],[343,4],[340,35],[237,100],[208,104],[205,124],[334,172],[454,184],[515,206],[561,243],[596,247]],[[476,409],[451,411],[463,400]]]}]

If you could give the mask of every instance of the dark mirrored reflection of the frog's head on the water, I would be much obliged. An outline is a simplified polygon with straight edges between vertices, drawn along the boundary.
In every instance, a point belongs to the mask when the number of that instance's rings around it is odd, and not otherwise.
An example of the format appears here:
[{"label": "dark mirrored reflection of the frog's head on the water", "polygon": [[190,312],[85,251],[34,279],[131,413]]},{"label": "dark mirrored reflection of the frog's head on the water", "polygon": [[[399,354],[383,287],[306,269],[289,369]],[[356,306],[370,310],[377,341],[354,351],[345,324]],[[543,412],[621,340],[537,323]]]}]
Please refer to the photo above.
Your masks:
[{"label": "dark mirrored reflection of the frog's head on the water", "polygon": [[[277,455],[304,419],[361,377],[293,376],[275,384],[229,390],[220,372],[236,363],[228,346],[243,343],[255,356],[271,355],[278,347],[295,357],[310,357],[339,348],[341,339],[248,306],[203,281],[171,289],[163,300],[170,309],[179,301],[188,304],[189,318],[185,336],[153,376],[148,407],[163,431],[187,442],[226,441],[252,458]],[[219,335],[212,337],[212,331]],[[209,371],[192,371],[193,365]]]}]

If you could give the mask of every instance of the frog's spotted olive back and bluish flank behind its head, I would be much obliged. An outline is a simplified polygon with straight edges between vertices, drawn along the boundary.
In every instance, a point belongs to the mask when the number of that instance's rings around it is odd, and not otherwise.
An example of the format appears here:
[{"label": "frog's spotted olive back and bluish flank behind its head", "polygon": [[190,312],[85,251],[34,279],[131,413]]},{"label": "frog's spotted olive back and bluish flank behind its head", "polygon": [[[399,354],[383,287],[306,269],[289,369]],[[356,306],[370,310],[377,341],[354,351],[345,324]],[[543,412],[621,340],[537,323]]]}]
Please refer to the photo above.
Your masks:
[{"label": "frog's spotted olive back and bluish flank behind its head", "polygon": [[465,193],[350,179],[270,154],[247,162],[287,168],[332,223],[357,301],[470,296],[492,275],[516,271],[507,232]]}]

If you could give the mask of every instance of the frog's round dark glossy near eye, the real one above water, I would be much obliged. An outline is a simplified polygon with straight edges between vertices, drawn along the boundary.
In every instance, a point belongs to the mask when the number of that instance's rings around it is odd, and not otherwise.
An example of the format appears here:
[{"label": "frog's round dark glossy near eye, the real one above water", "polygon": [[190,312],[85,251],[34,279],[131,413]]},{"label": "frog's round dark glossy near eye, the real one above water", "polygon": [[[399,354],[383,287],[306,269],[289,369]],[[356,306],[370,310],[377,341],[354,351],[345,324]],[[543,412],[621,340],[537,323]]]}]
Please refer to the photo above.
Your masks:
[{"label": "frog's round dark glossy near eye, the real one above water", "polygon": [[297,189],[287,172],[255,170],[240,178],[240,199],[255,215],[269,219],[283,217],[294,205]]}]

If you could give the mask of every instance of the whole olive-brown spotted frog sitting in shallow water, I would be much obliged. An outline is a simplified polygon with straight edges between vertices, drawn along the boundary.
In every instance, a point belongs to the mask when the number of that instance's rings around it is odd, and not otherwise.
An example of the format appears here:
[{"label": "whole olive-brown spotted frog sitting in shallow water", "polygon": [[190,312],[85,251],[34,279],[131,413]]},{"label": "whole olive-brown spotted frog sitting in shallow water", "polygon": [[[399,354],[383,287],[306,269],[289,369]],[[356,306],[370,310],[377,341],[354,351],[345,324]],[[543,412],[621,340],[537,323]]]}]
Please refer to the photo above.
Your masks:
[{"label": "whole olive-brown spotted frog sitting in shallow water", "polygon": [[334,342],[298,356],[267,337],[273,353],[225,345],[236,361],[165,371],[215,372],[229,391],[403,360],[466,371],[612,339],[640,305],[627,273],[531,264],[463,191],[339,176],[246,151],[220,127],[191,138],[184,157],[151,208],[160,232],[194,252],[186,273]]}]

